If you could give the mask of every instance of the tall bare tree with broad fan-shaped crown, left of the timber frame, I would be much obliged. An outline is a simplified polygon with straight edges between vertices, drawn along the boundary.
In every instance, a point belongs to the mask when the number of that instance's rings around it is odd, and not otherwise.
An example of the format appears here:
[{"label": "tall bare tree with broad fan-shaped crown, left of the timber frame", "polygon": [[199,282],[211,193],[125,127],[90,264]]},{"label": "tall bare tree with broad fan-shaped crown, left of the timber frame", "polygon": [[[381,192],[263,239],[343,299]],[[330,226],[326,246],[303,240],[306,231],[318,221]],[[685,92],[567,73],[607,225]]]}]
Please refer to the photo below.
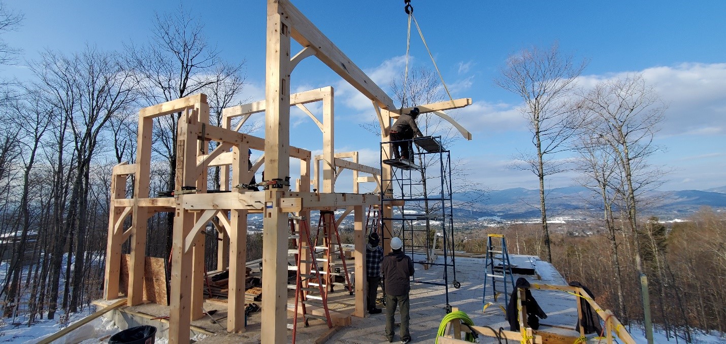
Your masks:
[{"label": "tall bare tree with broad fan-shaped crown, left of the timber frame", "polygon": [[[73,56],[45,52],[42,61],[32,65],[31,70],[40,80],[38,87],[43,90],[46,102],[60,113],[68,126],[74,157],[73,173],[68,173],[68,178],[73,177],[67,211],[60,212],[64,217],[62,231],[59,232],[62,234],[57,238],[51,258],[49,319],[52,319],[65,236],[71,240],[69,247],[75,247],[75,269],[72,282],[65,284],[64,295],[70,295],[69,310],[77,310],[83,279],[86,229],[89,226],[87,207],[91,161],[108,120],[126,110],[134,99],[135,83],[131,79],[131,70],[125,67],[118,55],[99,52],[91,46]],[[70,272],[70,261],[69,254],[66,273]],[[73,285],[72,290],[70,285]],[[64,296],[64,301],[66,299]]]}]

